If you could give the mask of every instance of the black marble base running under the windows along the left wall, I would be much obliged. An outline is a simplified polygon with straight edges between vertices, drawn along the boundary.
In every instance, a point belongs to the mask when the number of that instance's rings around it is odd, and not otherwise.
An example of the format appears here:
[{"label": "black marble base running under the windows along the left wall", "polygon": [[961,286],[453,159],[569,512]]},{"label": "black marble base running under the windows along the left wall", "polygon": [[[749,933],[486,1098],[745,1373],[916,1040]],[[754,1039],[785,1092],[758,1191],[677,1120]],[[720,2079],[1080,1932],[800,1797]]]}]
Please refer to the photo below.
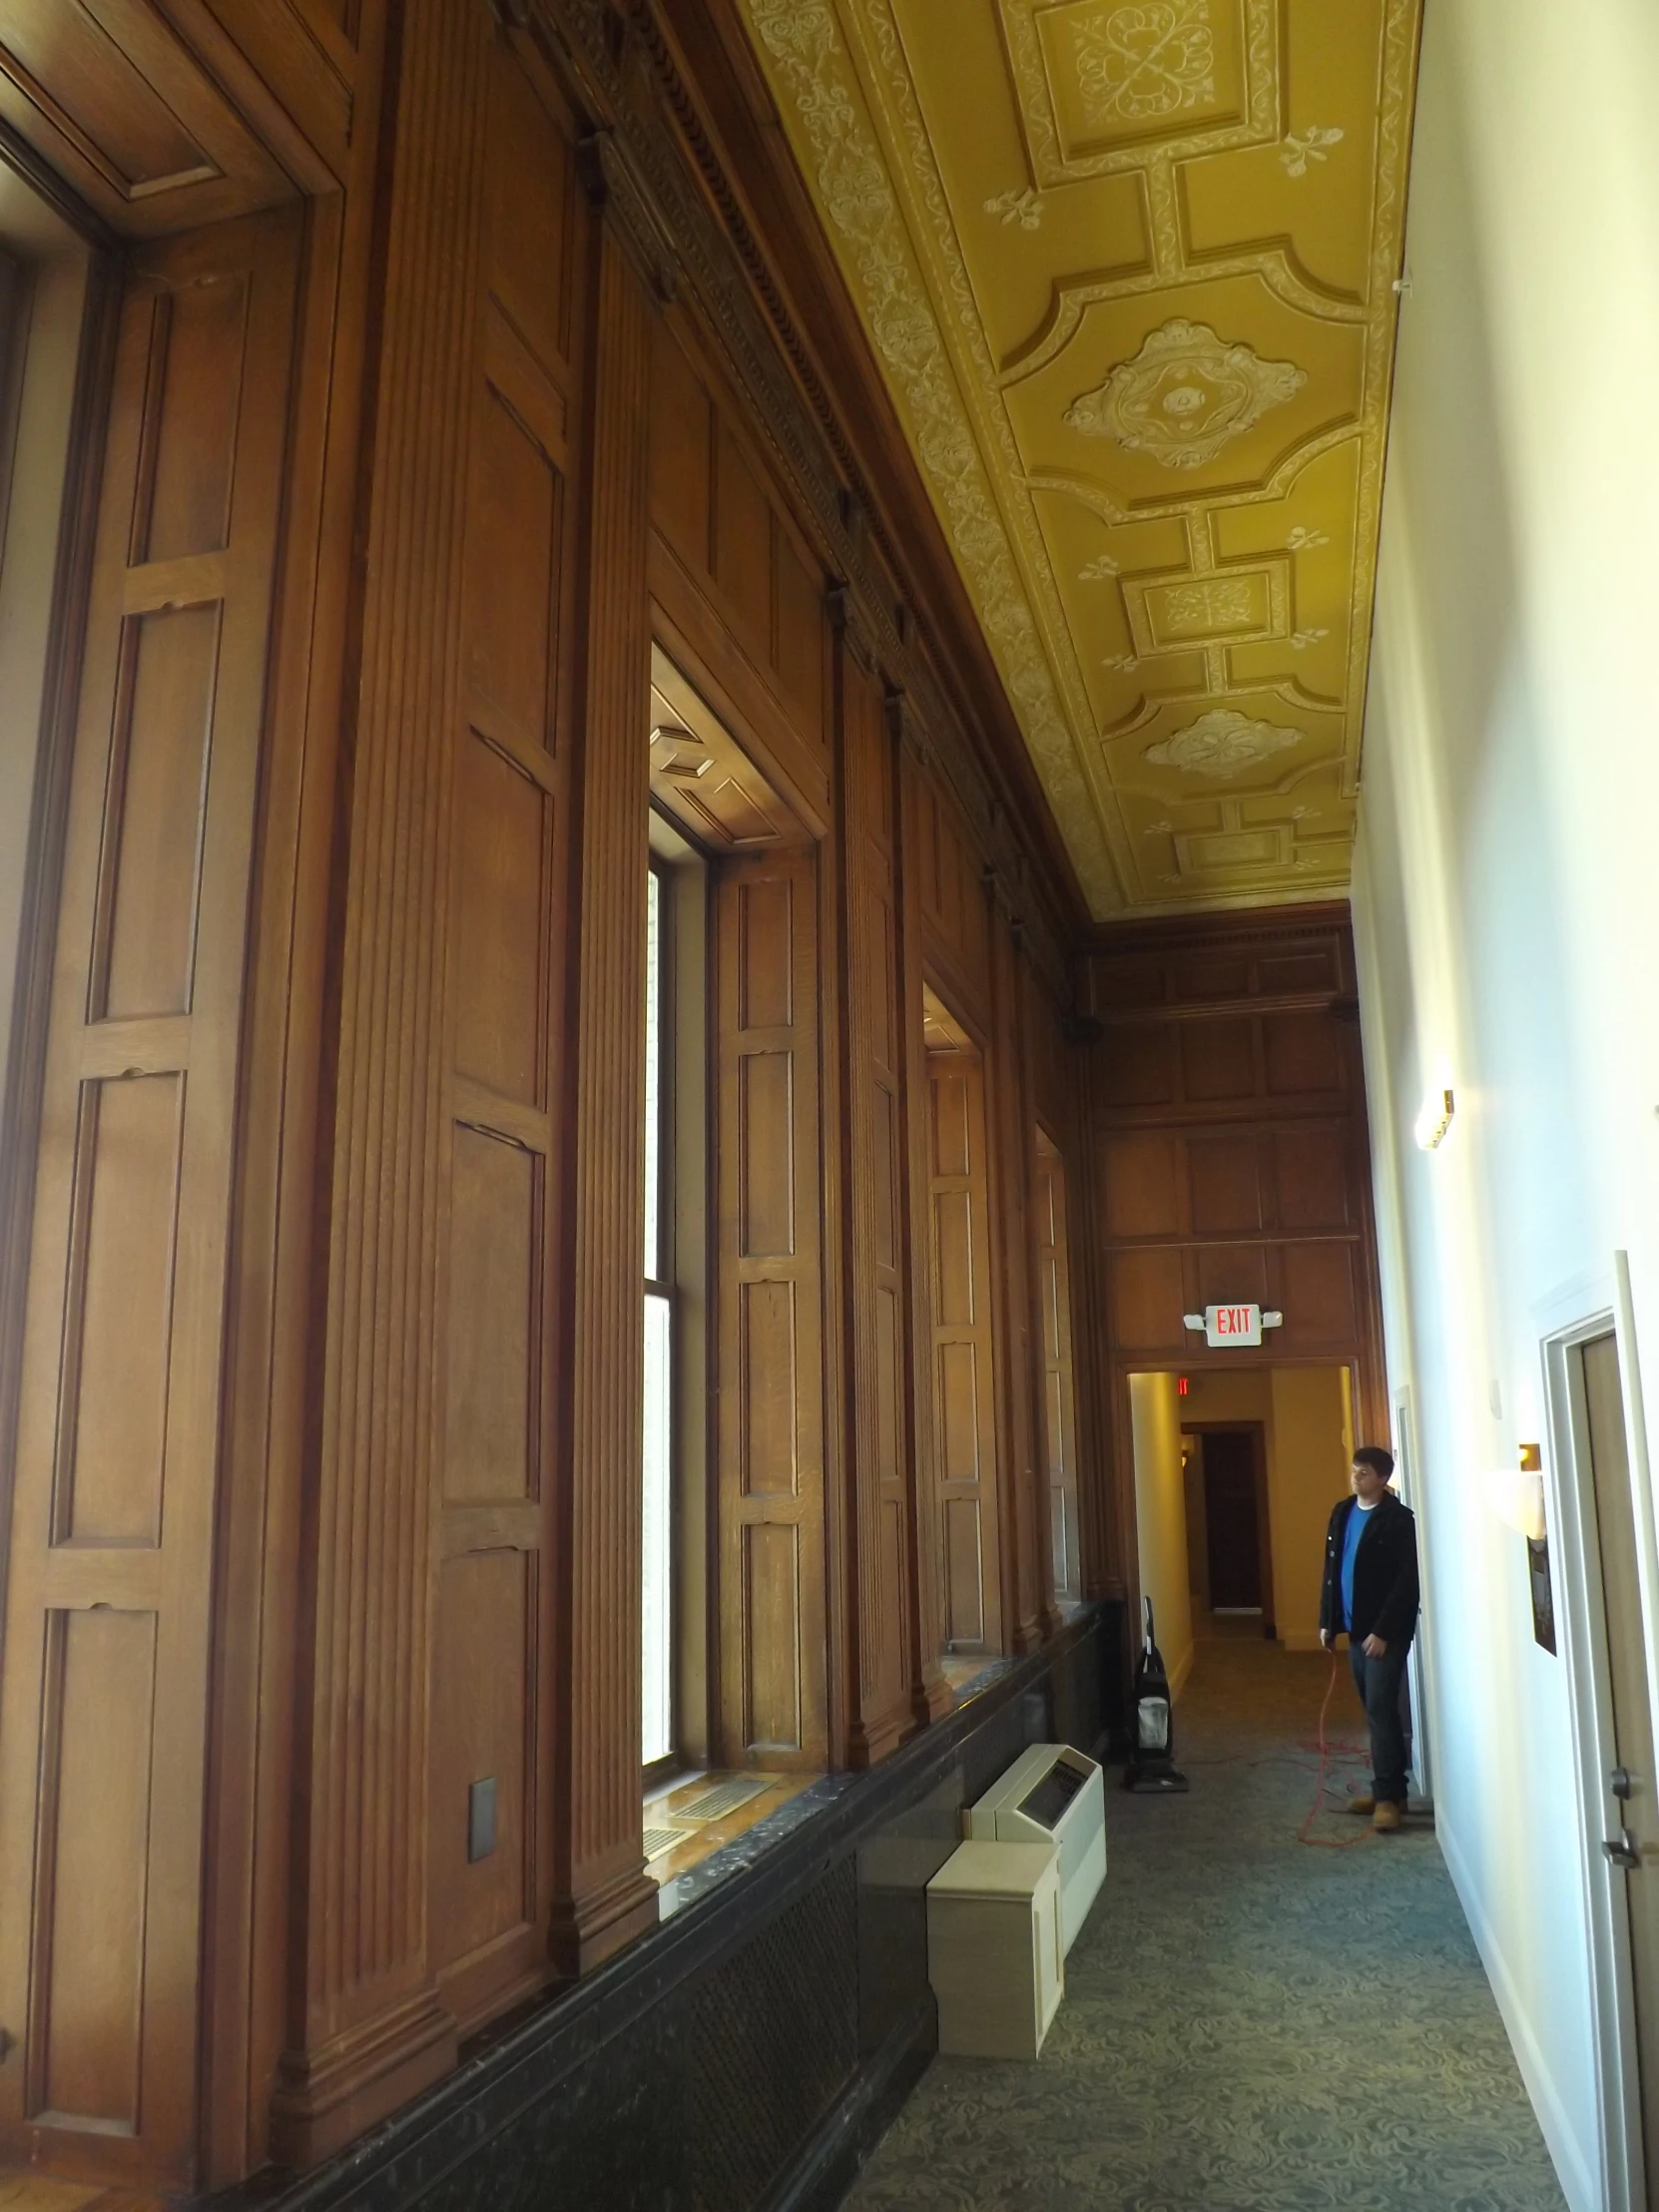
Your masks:
[{"label": "black marble base running under the windows along the left wall", "polygon": [[197,2205],[830,2212],[933,2055],[927,1882],[962,1805],[1026,1743],[1099,1743],[1119,1652],[1121,1608],[1079,1613],[878,1767],[681,1878],[672,1918],[338,2157]]}]

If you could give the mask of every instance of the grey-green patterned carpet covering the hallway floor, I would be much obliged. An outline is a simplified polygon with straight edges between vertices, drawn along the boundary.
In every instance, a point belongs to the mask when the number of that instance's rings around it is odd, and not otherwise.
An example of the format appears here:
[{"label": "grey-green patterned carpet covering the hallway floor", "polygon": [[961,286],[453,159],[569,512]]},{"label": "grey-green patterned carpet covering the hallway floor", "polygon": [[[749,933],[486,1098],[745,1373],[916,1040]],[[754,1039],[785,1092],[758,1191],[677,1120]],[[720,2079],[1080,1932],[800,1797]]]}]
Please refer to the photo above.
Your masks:
[{"label": "grey-green patterned carpet covering the hallway floor", "polygon": [[[1564,2212],[1427,1820],[1371,1836],[1334,1767],[1329,1661],[1206,1641],[1186,1798],[1108,1776],[1110,1871],[1037,2066],[936,2059],[847,2199],[936,2212]],[[1332,1736],[1363,1741],[1347,1663]]]}]

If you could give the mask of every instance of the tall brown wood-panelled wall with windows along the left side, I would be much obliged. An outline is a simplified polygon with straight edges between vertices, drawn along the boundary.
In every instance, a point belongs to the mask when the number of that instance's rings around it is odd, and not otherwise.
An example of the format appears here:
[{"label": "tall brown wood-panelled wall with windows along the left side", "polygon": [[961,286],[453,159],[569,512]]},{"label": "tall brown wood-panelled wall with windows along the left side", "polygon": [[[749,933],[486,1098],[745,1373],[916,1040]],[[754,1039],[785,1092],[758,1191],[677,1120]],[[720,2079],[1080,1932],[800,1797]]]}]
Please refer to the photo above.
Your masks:
[{"label": "tall brown wood-panelled wall with windows along the left side", "polygon": [[[376,0],[133,0],[119,35],[66,0],[0,71],[122,294],[0,1316],[0,2159],[88,2179],[310,2163],[655,1922],[653,648],[743,763],[710,836],[721,1756],[869,1763],[949,1708],[947,1124],[987,1646],[1055,1621],[1071,1469],[1106,1495],[1044,1352],[1037,1124],[1093,1172],[1075,885],[732,22],[394,18],[383,51]],[[982,1040],[956,1124],[927,982]]]}]

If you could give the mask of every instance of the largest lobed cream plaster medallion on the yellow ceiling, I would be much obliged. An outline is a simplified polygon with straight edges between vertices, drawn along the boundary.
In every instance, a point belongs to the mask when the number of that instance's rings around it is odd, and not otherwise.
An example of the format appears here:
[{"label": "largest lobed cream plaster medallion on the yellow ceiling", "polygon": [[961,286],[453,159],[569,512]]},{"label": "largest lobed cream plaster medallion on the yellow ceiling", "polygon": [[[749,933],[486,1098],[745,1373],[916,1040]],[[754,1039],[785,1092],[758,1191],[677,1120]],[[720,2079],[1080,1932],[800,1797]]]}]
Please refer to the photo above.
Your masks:
[{"label": "largest lobed cream plaster medallion on the yellow ceiling", "polygon": [[1066,422],[1084,438],[1117,438],[1130,453],[1150,453],[1166,469],[1201,469],[1305,383],[1294,361],[1263,361],[1248,345],[1217,338],[1208,323],[1175,316],[1104,385],[1079,394]]}]

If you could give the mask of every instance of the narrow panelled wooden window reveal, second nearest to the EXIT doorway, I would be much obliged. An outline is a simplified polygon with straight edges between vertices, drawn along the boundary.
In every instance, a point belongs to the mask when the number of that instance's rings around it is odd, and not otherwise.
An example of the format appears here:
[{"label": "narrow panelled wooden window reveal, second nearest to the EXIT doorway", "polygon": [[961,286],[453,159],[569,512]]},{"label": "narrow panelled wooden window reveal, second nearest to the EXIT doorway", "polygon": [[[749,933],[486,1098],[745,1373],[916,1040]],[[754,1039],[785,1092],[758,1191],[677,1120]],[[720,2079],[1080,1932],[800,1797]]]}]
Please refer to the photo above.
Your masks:
[{"label": "narrow panelled wooden window reveal, second nearest to the EXIT doorway", "polygon": [[995,1354],[984,1064],[929,1053],[933,1444],[945,1535],[945,1644],[1002,1650]]}]

